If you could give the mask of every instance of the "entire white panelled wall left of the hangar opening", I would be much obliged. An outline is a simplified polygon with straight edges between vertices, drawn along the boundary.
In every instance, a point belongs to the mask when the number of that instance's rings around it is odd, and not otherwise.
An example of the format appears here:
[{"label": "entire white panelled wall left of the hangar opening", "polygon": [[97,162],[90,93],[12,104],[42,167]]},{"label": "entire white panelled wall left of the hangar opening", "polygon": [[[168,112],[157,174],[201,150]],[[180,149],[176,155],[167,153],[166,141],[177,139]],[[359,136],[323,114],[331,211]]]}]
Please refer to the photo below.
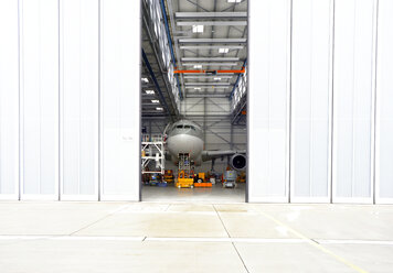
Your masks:
[{"label": "entire white panelled wall left of the hangar opening", "polygon": [[0,199],[139,200],[139,1],[1,1],[0,36]]}]

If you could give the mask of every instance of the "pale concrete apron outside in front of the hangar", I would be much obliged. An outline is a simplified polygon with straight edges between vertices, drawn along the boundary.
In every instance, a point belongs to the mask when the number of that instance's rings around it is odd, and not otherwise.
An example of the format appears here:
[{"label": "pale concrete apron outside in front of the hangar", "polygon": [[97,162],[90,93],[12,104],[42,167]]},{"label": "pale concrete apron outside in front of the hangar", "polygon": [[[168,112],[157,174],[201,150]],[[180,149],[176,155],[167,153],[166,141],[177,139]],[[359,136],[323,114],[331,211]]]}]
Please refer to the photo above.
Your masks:
[{"label": "pale concrete apron outside in front of the hangar", "polygon": [[2,201],[0,272],[393,272],[393,206]]}]

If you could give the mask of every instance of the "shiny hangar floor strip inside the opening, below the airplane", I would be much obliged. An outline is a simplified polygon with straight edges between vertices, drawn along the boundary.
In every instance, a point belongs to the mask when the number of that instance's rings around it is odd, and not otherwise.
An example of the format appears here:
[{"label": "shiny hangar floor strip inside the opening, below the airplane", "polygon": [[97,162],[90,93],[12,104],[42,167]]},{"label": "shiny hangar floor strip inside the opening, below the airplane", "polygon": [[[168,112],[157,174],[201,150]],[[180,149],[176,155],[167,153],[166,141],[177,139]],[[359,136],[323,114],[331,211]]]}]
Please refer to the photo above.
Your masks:
[{"label": "shiny hangar floor strip inside the opening, below the airplane", "polygon": [[173,184],[167,187],[142,187],[144,201],[204,201],[204,203],[244,203],[245,184],[238,183],[235,188],[223,188],[215,184],[211,188],[177,188]]}]

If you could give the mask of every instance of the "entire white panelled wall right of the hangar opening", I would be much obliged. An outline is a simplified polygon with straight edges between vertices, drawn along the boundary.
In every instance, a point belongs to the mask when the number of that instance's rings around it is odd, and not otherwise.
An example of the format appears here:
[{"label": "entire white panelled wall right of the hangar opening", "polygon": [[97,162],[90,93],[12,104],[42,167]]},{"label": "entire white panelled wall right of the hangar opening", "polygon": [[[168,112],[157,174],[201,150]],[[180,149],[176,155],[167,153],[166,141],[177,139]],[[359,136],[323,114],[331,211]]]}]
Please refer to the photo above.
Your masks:
[{"label": "entire white panelled wall right of the hangar opening", "polygon": [[391,1],[248,8],[249,201],[393,203]]}]

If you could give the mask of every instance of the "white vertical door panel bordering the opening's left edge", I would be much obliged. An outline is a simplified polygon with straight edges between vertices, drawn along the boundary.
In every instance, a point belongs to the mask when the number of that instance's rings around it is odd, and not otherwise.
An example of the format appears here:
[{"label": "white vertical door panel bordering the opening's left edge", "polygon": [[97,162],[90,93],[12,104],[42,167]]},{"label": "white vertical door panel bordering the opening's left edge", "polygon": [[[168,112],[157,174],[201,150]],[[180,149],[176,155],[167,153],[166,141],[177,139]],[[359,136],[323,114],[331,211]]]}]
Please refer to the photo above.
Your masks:
[{"label": "white vertical door panel bordering the opening's left edge", "polygon": [[140,2],[103,0],[102,199],[139,200]]}]

